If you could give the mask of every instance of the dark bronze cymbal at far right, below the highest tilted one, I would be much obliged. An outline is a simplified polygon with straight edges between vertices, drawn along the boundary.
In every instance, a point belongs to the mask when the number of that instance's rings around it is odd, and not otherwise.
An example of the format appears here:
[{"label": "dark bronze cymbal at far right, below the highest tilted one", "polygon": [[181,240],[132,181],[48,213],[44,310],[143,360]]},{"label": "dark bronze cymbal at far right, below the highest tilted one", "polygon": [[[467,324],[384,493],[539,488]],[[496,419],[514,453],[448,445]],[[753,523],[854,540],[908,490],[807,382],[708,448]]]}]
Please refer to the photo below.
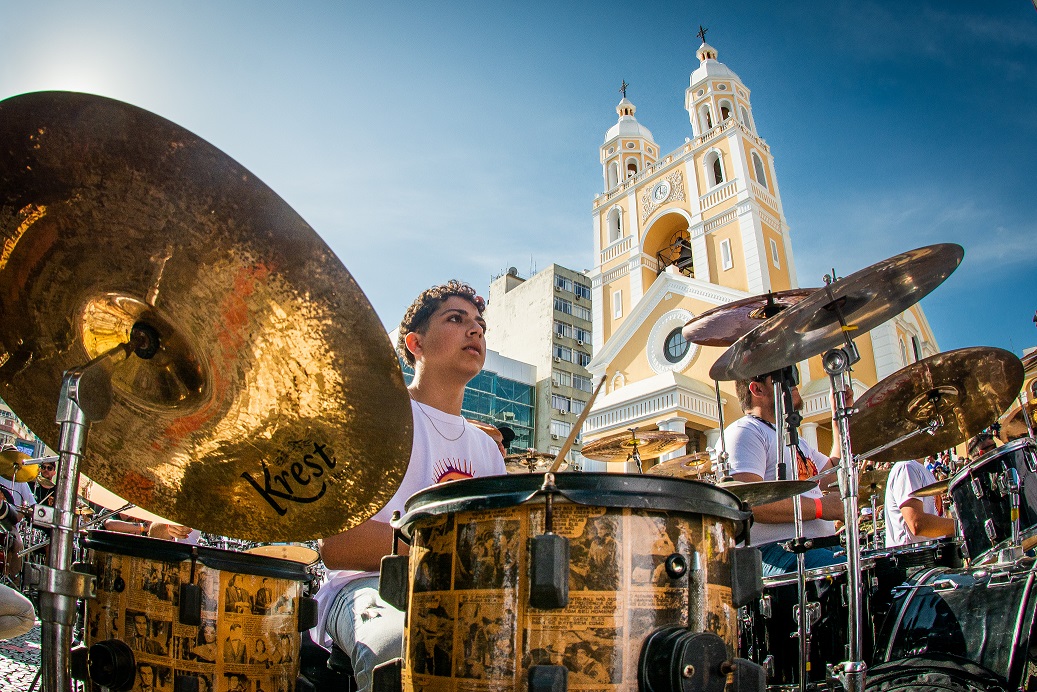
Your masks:
[{"label": "dark bronze cymbal at far right, below the highest tilted one", "polygon": [[930,356],[866,391],[849,419],[853,451],[896,440],[938,417],[935,434],[869,456],[873,462],[923,459],[964,442],[994,422],[1022,386],[1022,363],[1003,349],[974,347]]}]

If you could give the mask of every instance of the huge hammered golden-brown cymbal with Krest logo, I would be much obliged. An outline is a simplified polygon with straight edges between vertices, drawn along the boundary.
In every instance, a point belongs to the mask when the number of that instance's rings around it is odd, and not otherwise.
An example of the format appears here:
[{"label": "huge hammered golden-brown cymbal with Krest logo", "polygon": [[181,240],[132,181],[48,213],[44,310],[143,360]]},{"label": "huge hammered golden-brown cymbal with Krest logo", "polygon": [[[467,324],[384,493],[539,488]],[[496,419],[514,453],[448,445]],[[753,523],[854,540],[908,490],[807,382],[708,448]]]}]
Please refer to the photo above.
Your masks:
[{"label": "huge hammered golden-brown cymbal with Krest logo", "polygon": [[332,535],[398,489],[412,414],[382,321],[212,144],[100,96],[0,102],[0,396],[52,448],[62,372],[158,333],[90,426],[81,466],[105,488],[255,541]]}]

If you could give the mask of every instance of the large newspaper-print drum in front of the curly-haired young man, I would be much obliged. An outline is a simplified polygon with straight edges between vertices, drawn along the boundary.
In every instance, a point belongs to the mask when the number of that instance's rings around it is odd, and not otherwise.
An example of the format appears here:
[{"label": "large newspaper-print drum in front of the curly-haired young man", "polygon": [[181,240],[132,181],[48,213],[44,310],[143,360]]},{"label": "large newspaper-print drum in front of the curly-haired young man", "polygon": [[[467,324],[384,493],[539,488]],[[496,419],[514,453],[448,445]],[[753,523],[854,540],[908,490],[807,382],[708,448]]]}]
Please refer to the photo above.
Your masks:
[{"label": "large newspaper-print drum in front of the curly-haired young man", "polygon": [[[556,474],[554,532],[569,539],[565,608],[529,605],[529,543],[543,533],[543,474],[422,491],[396,525],[411,541],[407,691],[517,690],[533,665],[564,665],[569,690],[637,690],[649,633],[667,625],[738,648],[731,551],[749,514],[703,482]],[[683,555],[689,575],[666,559]],[[691,593],[692,606],[689,607]]]}]

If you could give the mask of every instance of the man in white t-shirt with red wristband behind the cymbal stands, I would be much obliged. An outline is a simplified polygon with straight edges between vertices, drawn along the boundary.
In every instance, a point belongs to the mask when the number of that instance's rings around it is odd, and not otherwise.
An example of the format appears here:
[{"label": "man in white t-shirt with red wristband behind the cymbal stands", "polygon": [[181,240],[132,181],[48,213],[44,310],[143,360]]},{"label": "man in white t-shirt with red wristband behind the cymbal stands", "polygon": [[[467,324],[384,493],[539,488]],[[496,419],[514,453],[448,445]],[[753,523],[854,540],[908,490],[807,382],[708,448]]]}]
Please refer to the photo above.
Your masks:
[{"label": "man in white t-shirt with red wristband behind the cymbal stands", "polygon": [[[800,395],[798,373],[794,368],[790,380],[792,408],[800,411],[803,408],[803,397]],[[745,482],[778,480],[773,375],[736,381],[735,391],[746,415],[728,425],[724,432],[730,454],[731,475],[735,480]],[[779,424],[784,424],[784,421]],[[803,438],[800,438],[795,459],[788,459],[787,448],[782,451],[787,468],[785,479],[805,480],[832,464],[839,463],[839,438],[835,437],[832,452],[828,456],[814,449]],[[800,503],[804,537],[815,538],[835,533],[834,521],[843,518],[842,499],[838,493],[823,495],[819,488],[813,488],[800,496]],[[796,569],[795,553],[785,550],[782,545],[796,537],[793,510],[791,498],[753,507],[755,523],[752,537],[762,553],[764,577]],[[831,548],[815,548],[805,553],[805,565],[808,570],[835,564],[843,559]]]}]

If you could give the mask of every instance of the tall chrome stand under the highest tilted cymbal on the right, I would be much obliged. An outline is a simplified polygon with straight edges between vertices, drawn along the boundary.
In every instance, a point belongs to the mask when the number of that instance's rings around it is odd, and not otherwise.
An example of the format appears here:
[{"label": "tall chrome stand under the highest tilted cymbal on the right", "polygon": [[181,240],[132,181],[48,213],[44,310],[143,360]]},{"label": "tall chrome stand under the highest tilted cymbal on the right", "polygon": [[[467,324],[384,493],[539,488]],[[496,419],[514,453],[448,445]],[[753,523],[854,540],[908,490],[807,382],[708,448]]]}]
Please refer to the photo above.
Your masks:
[{"label": "tall chrome stand under the highest tilted cymbal on the right", "polygon": [[[828,277],[825,277],[828,279]],[[826,287],[831,296],[831,287]],[[849,439],[849,416],[853,410],[848,406],[846,396],[849,387],[848,372],[851,365],[861,360],[861,354],[849,338],[852,330],[838,312],[838,305],[833,305],[842,324],[845,345],[832,349],[824,354],[821,363],[832,381],[832,391],[836,398],[835,420],[839,428],[840,469],[839,486],[843,499],[843,518],[846,522],[846,590],[849,615],[852,618],[848,630],[847,661],[833,666],[835,673],[846,692],[862,692],[868,666],[862,655],[861,634],[864,631],[862,603],[864,596],[861,581],[861,545],[853,539],[860,535],[860,515],[858,514],[858,460],[853,456]],[[836,431],[833,431],[835,434]]]}]

